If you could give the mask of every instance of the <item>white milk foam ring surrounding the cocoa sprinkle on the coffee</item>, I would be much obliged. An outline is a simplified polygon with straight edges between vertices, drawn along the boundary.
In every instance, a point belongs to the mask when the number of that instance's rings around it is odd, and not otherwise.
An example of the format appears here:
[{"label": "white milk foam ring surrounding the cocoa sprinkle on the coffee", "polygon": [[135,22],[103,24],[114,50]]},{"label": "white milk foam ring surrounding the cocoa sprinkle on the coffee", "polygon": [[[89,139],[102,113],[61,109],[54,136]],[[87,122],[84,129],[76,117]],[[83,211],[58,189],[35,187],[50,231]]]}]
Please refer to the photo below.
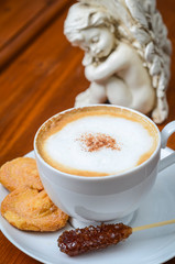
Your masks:
[{"label": "white milk foam ring surrounding the cocoa sprinkle on the coffee", "polygon": [[[102,133],[116,140],[117,150],[101,147],[88,152],[80,139],[90,133]],[[44,151],[54,162],[70,169],[117,174],[136,166],[140,157],[149,152],[153,138],[139,122],[108,114],[84,117],[67,123],[62,130],[48,136]]]}]

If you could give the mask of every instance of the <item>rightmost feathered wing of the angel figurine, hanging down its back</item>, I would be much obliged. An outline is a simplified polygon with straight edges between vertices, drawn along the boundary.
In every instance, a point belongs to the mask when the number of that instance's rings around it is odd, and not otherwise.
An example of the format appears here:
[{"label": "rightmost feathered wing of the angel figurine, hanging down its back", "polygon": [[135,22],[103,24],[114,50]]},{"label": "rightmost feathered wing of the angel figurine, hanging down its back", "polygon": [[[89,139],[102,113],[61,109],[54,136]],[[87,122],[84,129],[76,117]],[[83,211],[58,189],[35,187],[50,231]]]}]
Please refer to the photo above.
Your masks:
[{"label": "rightmost feathered wing of the angel figurine, hanging down its back", "polygon": [[130,31],[143,47],[145,64],[156,89],[157,102],[152,117],[156,123],[161,123],[168,114],[166,89],[171,77],[172,45],[167,29],[156,10],[155,0],[125,0],[125,4],[136,21]]}]

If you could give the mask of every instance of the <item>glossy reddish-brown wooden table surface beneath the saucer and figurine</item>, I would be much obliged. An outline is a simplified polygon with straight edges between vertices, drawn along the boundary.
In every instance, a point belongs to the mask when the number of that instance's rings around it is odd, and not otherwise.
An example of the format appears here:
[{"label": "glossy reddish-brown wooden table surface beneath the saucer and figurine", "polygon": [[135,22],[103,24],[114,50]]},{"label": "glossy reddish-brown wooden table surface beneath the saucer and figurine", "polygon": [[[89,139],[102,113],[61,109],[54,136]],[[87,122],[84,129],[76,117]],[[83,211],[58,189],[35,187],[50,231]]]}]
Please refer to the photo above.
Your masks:
[{"label": "glossy reddish-brown wooden table surface beneath the saucer and figurine", "polygon": [[[33,150],[37,128],[51,116],[74,106],[88,87],[83,52],[63,34],[70,0],[0,1],[0,166]],[[175,1],[157,0],[175,50]],[[175,120],[175,55],[167,90]],[[168,140],[175,150],[175,134]],[[36,264],[0,232],[0,264]],[[175,263],[175,258],[168,264]]]}]

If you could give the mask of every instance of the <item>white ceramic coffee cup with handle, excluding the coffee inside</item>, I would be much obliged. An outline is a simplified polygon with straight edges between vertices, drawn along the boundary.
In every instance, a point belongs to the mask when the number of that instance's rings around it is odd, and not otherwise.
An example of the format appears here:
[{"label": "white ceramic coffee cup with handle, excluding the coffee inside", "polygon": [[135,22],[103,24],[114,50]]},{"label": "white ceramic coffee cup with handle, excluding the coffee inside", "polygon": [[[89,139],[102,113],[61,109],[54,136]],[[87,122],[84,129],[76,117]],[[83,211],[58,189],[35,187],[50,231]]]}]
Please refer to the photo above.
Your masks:
[{"label": "white ceramic coffee cup with handle, excluding the coffee inside", "polygon": [[[108,110],[111,106],[103,107]],[[73,110],[68,109],[58,114]],[[134,110],[127,110],[143,117],[155,128],[157,145],[149,160],[118,175],[85,177],[54,168],[44,161],[37,150],[36,141],[43,125],[36,132],[34,152],[41,180],[53,202],[72,217],[75,227],[88,226],[91,222],[129,222],[154,186],[157,173],[175,162],[175,153],[163,160],[160,157],[161,148],[166,146],[167,139],[175,132],[175,121],[168,123],[160,133],[151,119]],[[53,117],[50,120],[52,119]]]}]

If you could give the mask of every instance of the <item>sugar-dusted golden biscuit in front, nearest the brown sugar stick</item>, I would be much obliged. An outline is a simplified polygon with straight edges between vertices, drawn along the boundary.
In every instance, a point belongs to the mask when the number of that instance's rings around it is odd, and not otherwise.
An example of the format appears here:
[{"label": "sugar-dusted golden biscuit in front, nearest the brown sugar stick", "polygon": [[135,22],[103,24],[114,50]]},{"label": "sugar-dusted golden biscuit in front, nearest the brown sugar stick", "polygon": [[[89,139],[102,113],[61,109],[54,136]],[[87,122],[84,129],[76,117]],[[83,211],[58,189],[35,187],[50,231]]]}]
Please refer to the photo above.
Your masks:
[{"label": "sugar-dusted golden biscuit in front, nearest the brown sugar stick", "polygon": [[59,230],[68,220],[45,190],[29,187],[10,193],[1,204],[1,215],[18,229],[41,232]]}]

